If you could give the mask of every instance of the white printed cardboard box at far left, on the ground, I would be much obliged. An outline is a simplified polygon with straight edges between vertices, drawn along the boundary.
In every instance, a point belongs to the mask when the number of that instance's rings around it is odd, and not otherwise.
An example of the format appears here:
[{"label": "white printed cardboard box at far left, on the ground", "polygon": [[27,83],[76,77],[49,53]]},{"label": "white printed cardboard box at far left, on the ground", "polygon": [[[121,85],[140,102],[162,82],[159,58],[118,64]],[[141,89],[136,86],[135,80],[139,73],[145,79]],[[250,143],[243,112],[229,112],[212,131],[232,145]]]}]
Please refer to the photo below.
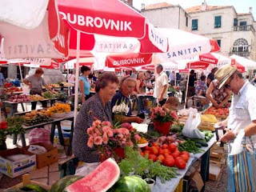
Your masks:
[{"label": "white printed cardboard box at far left, on the ground", "polygon": [[[22,158],[18,161],[10,161],[7,156],[13,154],[28,154],[28,158]],[[15,148],[12,150],[2,150],[0,152],[0,172],[6,174],[10,178],[16,178],[21,174],[26,174],[30,170],[35,170],[37,167],[36,155],[28,152],[25,148]]]}]

